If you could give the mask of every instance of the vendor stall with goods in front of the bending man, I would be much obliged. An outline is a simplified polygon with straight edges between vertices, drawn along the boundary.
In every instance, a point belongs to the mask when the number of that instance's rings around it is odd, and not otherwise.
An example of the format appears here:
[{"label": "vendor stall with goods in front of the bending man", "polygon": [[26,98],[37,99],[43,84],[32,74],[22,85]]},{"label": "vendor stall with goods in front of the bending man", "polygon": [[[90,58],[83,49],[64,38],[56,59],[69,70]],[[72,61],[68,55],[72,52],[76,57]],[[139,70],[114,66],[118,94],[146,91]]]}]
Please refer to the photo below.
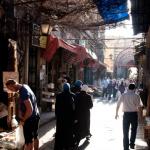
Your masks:
[{"label": "vendor stall with goods in front of the bending man", "polygon": [[8,106],[0,100],[0,149],[21,149],[24,144],[23,128],[16,120],[16,98],[15,93],[8,93]]}]

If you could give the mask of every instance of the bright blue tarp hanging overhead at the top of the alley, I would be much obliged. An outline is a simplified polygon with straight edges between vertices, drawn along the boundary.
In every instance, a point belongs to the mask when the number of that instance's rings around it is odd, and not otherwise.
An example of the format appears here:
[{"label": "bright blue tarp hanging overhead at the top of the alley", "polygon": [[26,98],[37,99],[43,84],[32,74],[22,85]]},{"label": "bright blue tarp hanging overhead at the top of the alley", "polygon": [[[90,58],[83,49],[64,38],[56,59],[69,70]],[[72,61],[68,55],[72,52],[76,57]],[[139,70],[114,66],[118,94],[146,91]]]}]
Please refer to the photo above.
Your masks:
[{"label": "bright blue tarp hanging overhead at the top of the alley", "polygon": [[95,0],[104,23],[117,23],[129,18],[127,0]]}]

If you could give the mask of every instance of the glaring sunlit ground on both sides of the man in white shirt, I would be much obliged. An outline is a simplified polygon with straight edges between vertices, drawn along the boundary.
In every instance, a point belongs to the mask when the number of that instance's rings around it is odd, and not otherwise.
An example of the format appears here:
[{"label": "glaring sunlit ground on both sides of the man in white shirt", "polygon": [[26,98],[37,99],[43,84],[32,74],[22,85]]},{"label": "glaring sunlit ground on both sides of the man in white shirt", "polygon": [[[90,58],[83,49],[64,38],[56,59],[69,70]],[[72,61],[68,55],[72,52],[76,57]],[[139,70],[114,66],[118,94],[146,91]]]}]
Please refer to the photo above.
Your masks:
[{"label": "glaring sunlit ground on both sides of the man in white shirt", "polygon": [[[123,150],[122,135],[122,112],[118,120],[115,119],[116,103],[111,101],[95,102],[91,110],[91,133],[90,144],[86,150]],[[136,140],[136,148],[146,150],[147,144],[143,139],[142,127]]]}]

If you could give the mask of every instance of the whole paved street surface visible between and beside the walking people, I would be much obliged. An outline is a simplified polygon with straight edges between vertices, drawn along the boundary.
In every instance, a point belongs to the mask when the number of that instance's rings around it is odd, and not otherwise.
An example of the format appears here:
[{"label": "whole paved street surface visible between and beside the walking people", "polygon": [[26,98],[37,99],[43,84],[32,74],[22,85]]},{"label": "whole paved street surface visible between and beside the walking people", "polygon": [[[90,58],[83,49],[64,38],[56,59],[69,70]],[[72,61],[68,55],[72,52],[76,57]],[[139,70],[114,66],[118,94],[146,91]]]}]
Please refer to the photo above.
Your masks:
[{"label": "whole paved street surface visible between and beside the walking people", "polygon": [[[91,110],[91,133],[89,142],[82,140],[79,150],[123,150],[122,113],[115,119],[116,102],[95,99]],[[139,125],[136,139],[137,150],[148,150],[143,140],[143,126]],[[40,150],[53,150],[55,121],[40,128]]]}]

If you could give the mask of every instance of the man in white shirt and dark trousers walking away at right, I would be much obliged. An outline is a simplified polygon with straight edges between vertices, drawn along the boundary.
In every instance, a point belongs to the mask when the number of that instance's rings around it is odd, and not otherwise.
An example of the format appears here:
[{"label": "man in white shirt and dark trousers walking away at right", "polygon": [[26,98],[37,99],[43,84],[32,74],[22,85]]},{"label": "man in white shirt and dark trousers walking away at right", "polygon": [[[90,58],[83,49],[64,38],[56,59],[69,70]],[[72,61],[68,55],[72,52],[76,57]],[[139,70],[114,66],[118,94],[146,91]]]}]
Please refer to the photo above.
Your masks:
[{"label": "man in white shirt and dark trousers walking away at right", "polygon": [[[123,104],[123,146],[124,150],[134,149],[135,139],[138,127],[138,108],[142,106],[140,96],[135,94],[135,84],[131,83],[128,87],[127,93],[121,95],[117,107],[116,116],[118,118],[118,110],[121,103]],[[131,136],[129,141],[129,128],[131,125]],[[130,143],[129,143],[130,142]]]}]

